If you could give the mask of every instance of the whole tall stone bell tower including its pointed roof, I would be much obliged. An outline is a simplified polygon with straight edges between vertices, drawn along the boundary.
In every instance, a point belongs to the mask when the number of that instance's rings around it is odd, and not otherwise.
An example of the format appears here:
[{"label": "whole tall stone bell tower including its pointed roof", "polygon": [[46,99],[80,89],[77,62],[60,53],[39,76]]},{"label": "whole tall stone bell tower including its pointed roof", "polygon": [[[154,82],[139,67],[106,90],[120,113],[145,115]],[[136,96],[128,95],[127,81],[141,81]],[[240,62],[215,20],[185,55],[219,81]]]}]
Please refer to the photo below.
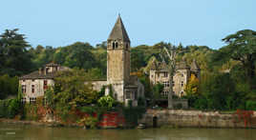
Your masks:
[{"label": "whole tall stone bell tower including its pointed roof", "polygon": [[107,40],[107,82],[114,97],[124,101],[124,87],[130,77],[130,39],[120,15]]}]

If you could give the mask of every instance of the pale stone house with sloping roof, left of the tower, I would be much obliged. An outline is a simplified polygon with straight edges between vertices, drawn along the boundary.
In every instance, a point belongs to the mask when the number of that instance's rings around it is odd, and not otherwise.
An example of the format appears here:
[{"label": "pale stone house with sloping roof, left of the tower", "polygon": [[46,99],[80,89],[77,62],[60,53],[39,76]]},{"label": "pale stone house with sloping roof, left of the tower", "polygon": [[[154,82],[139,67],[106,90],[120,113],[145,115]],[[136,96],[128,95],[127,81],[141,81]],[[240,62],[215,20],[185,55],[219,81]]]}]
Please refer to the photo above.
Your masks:
[{"label": "pale stone house with sloping roof, left of the tower", "polygon": [[42,69],[33,71],[19,78],[19,85],[23,93],[23,102],[35,103],[36,98],[43,96],[48,87],[54,85],[53,78],[57,71],[70,70],[58,64],[50,63]]}]

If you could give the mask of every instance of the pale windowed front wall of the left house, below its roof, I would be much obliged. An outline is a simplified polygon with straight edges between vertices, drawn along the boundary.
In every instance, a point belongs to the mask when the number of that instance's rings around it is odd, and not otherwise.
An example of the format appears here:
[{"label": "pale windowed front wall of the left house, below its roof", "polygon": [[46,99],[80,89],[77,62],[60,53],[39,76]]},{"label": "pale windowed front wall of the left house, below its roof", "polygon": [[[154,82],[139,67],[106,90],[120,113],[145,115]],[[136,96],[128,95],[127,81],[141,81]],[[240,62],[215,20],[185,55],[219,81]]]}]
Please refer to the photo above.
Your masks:
[{"label": "pale windowed front wall of the left house, below its roof", "polygon": [[[44,81],[47,81],[47,87],[53,86],[53,79],[26,79],[19,80],[20,86],[26,86],[26,92],[23,93],[23,98],[26,98],[26,102],[30,102],[30,98],[37,98],[44,95],[46,89],[44,89]],[[32,92],[32,85],[34,91]]]}]

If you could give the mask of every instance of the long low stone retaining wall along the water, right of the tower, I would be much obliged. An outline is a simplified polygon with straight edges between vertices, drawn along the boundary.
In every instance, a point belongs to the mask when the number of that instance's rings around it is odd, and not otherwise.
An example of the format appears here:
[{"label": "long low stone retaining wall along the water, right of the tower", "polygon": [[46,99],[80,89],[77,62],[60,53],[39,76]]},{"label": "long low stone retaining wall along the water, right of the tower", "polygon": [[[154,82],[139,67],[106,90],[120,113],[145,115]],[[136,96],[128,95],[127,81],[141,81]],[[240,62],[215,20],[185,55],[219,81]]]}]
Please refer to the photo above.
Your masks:
[{"label": "long low stone retaining wall along the water, right of the tower", "polygon": [[223,114],[219,111],[201,110],[147,110],[139,123],[153,127],[196,127],[196,128],[256,128],[256,111],[250,117],[241,114]]}]

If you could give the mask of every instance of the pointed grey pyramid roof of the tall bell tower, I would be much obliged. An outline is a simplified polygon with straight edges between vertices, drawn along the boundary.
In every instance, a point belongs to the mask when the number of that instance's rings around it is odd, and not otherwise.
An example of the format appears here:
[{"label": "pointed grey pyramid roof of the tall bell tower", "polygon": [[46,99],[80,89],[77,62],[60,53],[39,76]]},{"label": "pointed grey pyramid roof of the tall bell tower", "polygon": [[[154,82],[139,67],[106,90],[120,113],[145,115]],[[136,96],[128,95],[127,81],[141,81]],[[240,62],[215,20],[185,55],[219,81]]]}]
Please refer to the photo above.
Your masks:
[{"label": "pointed grey pyramid roof of the tall bell tower", "polygon": [[124,28],[120,15],[117,17],[117,22],[111,31],[108,40],[117,40],[130,42],[129,36]]}]

